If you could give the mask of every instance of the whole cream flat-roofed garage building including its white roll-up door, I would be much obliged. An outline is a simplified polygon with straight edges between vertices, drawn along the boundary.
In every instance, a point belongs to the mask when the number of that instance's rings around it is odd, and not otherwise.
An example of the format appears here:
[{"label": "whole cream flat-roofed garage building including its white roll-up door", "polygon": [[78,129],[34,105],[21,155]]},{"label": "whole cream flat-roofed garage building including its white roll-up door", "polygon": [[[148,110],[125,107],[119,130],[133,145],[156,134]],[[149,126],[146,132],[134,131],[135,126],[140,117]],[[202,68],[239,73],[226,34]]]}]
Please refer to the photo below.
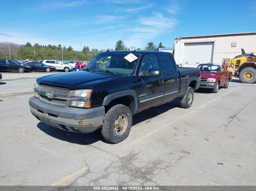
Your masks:
[{"label": "whole cream flat-roofed garage building including its white roll-up door", "polygon": [[174,37],[176,63],[182,67],[197,67],[202,63],[230,63],[241,54],[256,54],[256,32]]}]

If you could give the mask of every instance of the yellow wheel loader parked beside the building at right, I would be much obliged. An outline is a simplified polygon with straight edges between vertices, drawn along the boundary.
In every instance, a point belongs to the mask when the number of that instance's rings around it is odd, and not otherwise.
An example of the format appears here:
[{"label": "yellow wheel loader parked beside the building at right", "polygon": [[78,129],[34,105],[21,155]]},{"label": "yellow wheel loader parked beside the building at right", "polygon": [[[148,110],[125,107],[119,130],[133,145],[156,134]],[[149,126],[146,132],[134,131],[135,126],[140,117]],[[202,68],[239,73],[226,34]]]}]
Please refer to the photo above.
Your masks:
[{"label": "yellow wheel loader parked beside the building at right", "polygon": [[242,54],[230,62],[230,67],[234,70],[233,76],[245,84],[253,84],[256,82],[256,56],[254,53],[246,54],[244,49],[241,51]]}]

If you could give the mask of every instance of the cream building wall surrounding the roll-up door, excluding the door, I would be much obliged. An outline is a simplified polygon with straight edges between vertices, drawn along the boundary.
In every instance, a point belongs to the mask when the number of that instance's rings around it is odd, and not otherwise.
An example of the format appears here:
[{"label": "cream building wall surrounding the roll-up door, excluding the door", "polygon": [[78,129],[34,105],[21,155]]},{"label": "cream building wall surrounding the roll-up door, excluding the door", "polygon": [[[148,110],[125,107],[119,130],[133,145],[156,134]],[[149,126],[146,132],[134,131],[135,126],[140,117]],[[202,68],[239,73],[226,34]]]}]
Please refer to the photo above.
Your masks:
[{"label": "cream building wall surrounding the roll-up door, excluding the door", "polygon": [[[233,59],[241,54],[241,48],[246,53],[256,54],[256,35],[198,37],[175,40],[176,64],[183,65],[185,43],[214,42],[213,63],[222,63],[222,59]],[[236,47],[231,47],[232,42],[237,42]]]}]

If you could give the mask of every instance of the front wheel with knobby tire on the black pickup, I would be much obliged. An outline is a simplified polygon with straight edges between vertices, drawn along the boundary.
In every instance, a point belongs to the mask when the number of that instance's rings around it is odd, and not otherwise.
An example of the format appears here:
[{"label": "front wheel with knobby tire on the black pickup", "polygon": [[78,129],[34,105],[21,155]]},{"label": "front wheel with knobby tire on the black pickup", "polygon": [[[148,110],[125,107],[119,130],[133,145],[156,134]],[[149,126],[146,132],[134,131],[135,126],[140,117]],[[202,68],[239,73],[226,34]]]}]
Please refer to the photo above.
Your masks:
[{"label": "front wheel with knobby tire on the black pickup", "polygon": [[101,134],[108,142],[119,143],[128,137],[131,124],[131,110],[125,105],[118,104],[105,114]]}]

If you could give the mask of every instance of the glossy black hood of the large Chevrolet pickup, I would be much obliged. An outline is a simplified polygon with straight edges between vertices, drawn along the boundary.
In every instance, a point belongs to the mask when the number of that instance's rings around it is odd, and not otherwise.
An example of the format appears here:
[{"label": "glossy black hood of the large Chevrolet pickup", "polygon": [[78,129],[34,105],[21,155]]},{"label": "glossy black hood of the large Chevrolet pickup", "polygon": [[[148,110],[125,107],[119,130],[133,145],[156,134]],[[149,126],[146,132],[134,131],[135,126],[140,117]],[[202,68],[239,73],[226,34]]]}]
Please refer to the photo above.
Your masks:
[{"label": "glossy black hood of the large Chevrolet pickup", "polygon": [[81,88],[95,88],[100,85],[108,84],[113,81],[127,79],[127,76],[112,74],[107,72],[67,72],[61,74],[47,75],[37,78],[40,84],[66,87],[70,90]]}]

